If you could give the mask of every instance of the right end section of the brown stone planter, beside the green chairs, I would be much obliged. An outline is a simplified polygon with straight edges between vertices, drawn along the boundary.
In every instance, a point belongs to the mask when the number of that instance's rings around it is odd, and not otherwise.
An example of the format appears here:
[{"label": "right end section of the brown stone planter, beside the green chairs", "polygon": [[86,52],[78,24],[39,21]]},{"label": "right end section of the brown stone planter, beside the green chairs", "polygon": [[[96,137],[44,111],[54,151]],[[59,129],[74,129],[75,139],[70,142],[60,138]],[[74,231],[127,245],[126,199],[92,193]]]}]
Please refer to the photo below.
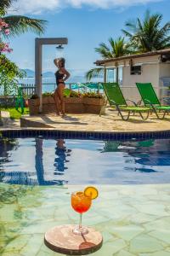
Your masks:
[{"label": "right end section of the brown stone planter, beside the green chairs", "polygon": [[100,113],[102,106],[105,105],[104,99],[99,98],[83,98],[86,113]]}]

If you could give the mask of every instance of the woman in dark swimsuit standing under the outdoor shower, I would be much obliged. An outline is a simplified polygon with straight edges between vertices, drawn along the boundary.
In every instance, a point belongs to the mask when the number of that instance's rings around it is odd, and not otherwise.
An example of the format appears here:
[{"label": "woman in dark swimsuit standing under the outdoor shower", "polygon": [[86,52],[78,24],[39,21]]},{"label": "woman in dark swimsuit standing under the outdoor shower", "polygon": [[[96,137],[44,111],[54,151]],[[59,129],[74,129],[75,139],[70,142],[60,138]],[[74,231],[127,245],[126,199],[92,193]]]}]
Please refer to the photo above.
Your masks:
[{"label": "woman in dark swimsuit standing under the outdoor shower", "polygon": [[65,81],[70,77],[70,73],[65,69],[65,59],[59,58],[54,59],[54,64],[58,67],[55,73],[57,88],[54,91],[54,101],[56,103],[57,114],[59,111],[63,116],[65,116],[65,102],[63,91],[65,89]]}]

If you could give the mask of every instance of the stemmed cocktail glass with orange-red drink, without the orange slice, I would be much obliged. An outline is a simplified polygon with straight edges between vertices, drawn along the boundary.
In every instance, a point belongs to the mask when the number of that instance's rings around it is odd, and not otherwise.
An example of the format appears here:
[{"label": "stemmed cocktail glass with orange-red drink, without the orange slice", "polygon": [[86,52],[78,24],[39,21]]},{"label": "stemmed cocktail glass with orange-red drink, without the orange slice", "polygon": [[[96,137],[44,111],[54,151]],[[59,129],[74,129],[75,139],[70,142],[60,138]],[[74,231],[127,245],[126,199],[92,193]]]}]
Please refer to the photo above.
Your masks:
[{"label": "stemmed cocktail glass with orange-red drink, without the orange slice", "polygon": [[76,192],[71,194],[71,206],[73,209],[80,213],[79,225],[72,230],[75,235],[86,235],[88,234],[88,229],[82,227],[82,213],[87,212],[91,207],[92,199],[88,195],[84,195],[83,192]]}]

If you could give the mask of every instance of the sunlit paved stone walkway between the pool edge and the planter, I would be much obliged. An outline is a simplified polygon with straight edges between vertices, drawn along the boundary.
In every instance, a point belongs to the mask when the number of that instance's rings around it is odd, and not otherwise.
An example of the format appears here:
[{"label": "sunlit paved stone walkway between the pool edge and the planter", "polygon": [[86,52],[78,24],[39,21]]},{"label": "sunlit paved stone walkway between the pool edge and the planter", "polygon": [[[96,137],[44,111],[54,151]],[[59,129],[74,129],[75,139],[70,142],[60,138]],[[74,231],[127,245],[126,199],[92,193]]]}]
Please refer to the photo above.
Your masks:
[{"label": "sunlit paved stone walkway between the pool edge and the planter", "polygon": [[[8,113],[2,112],[3,126],[0,129],[20,129],[20,120],[9,119]],[[123,121],[116,112],[107,109],[105,115],[68,114],[65,118],[55,114],[24,116],[21,119],[23,128],[49,128],[62,131],[166,131],[170,130],[170,115],[167,119],[156,119],[153,114],[150,119],[142,120],[139,116]]]}]

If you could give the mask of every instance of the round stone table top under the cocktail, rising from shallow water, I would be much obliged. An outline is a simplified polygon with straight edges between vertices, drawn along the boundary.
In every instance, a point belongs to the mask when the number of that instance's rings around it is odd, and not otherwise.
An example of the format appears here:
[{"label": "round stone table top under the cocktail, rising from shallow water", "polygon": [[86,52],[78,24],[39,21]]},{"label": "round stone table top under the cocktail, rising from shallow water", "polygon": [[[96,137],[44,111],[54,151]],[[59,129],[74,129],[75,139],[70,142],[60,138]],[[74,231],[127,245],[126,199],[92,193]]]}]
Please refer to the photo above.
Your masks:
[{"label": "round stone table top under the cocktail, rising from shallow water", "polygon": [[102,247],[101,234],[88,227],[88,234],[84,236],[74,235],[74,225],[56,226],[45,233],[45,245],[56,253],[67,255],[86,255],[94,253]]}]

